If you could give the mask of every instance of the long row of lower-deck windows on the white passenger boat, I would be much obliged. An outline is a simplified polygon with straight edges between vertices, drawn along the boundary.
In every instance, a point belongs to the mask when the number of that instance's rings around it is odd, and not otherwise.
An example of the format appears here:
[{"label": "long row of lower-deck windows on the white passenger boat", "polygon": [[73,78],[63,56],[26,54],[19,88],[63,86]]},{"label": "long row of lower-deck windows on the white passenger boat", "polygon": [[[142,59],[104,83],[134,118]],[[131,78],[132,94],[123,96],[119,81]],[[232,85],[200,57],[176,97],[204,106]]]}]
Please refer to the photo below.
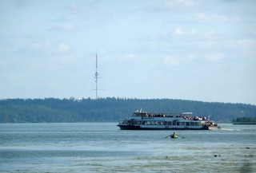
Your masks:
[{"label": "long row of lower-deck windows on the white passenger boat", "polygon": [[136,121],[122,120],[120,124],[143,124],[143,125],[176,125],[176,126],[200,126],[200,122],[180,122],[180,121]]}]

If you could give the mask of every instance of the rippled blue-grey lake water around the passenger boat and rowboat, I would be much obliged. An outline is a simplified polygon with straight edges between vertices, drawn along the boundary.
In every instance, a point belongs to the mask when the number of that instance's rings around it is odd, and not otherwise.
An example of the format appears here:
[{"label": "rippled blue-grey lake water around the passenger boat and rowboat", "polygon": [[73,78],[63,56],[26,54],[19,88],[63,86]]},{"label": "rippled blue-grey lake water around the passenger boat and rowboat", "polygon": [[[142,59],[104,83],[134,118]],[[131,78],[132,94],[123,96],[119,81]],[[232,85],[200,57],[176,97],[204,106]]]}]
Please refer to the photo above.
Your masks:
[{"label": "rippled blue-grey lake water around the passenger boat and rowboat", "polygon": [[0,124],[0,172],[256,172],[256,126],[121,131],[114,123]]}]

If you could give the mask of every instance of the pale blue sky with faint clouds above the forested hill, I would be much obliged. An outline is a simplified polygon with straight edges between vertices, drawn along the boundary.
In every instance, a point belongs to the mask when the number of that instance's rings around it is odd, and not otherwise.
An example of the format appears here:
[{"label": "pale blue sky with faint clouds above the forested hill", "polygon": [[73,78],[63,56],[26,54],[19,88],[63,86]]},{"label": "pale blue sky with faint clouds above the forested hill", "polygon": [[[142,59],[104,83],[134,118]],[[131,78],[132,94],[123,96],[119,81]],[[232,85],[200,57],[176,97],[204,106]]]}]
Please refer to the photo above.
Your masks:
[{"label": "pale blue sky with faint clouds above the forested hill", "polygon": [[254,0],[0,0],[0,99],[256,105]]}]

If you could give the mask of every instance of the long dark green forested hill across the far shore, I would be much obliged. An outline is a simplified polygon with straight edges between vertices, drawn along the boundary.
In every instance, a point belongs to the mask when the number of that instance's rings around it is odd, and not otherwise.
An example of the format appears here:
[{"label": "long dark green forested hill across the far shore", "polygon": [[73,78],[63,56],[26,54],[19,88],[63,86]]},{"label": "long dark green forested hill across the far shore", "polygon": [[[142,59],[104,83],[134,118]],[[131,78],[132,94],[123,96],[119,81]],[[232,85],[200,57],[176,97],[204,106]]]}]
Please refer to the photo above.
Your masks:
[{"label": "long dark green forested hill across the far shore", "polygon": [[142,109],[147,112],[194,112],[218,122],[255,117],[251,104],[210,103],[172,99],[7,99],[0,100],[0,123],[118,122]]}]

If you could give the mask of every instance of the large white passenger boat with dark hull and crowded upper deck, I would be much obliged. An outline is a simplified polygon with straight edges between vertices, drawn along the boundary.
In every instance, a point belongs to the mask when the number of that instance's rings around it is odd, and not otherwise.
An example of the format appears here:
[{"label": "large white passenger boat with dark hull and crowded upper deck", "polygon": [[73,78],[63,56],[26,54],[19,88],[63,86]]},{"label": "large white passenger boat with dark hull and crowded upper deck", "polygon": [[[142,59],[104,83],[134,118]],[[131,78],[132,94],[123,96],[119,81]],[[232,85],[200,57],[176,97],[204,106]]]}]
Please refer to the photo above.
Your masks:
[{"label": "large white passenger boat with dark hull and crowded upper deck", "polygon": [[218,128],[213,120],[193,116],[192,112],[161,113],[136,111],[133,116],[120,120],[121,130],[214,130]]}]

